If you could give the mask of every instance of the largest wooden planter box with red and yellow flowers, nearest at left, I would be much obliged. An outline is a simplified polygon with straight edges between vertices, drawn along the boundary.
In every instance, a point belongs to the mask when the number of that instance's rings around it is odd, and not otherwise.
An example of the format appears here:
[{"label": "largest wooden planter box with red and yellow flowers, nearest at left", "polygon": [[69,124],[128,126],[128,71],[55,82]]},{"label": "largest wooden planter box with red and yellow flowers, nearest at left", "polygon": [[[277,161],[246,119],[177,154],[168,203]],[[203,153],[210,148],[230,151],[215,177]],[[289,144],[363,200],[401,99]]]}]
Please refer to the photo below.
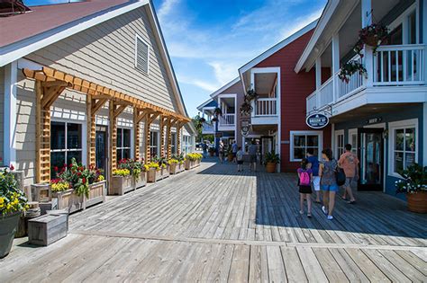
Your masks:
[{"label": "largest wooden planter box with red and yellow flowers, nearest at left", "polygon": [[73,213],[104,202],[106,181],[100,170],[86,168],[73,158],[68,168],[64,164],[60,172],[58,168],[55,172],[57,178],[50,181],[50,190],[53,198],[58,199],[59,209]]}]

